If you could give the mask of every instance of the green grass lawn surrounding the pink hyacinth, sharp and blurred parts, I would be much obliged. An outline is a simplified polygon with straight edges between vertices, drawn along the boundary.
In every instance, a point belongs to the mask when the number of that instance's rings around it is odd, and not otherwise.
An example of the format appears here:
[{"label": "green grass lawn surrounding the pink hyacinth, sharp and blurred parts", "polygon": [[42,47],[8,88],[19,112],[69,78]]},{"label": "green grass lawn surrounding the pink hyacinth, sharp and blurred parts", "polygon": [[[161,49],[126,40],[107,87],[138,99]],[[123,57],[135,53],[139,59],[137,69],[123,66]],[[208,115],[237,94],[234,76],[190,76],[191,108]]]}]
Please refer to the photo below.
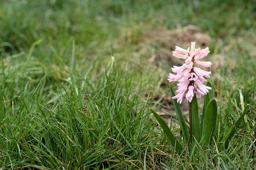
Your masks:
[{"label": "green grass lawn surrounding the pink hyacinth, sharp and blurred parts", "polygon": [[[0,3],[1,170],[255,169],[254,1]],[[211,51],[218,119],[214,147],[194,145],[180,157],[150,108],[167,107],[166,79],[179,64],[171,51],[190,41]]]}]

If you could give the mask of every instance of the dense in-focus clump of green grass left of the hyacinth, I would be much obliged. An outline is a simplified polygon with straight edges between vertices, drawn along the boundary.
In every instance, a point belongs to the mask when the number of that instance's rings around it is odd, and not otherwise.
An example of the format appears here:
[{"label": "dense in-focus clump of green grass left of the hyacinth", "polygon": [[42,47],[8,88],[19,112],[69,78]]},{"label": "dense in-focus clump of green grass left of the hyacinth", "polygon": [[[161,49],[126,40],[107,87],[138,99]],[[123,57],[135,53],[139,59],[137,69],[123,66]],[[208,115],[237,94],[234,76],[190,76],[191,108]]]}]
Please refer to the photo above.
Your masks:
[{"label": "dense in-focus clump of green grass left of the hyacinth", "polygon": [[21,92],[15,104],[1,98],[1,148],[8,150],[2,153],[3,167],[152,166],[143,160],[145,150],[159,154],[153,146],[158,134],[149,116],[150,100],[140,102],[133,78],[122,71],[97,82],[102,82],[98,90],[70,78],[46,97],[45,75],[32,94]]}]

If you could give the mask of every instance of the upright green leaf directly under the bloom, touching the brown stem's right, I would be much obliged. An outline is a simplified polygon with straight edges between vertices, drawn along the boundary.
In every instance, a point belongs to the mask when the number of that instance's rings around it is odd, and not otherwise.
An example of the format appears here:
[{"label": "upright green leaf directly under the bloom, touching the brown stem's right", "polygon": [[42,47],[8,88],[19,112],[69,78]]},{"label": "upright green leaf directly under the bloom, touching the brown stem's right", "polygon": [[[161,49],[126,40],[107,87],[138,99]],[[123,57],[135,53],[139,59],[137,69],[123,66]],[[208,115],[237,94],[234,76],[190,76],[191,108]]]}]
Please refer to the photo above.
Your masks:
[{"label": "upright green leaf directly under the bloom, touching the brown stem's right", "polygon": [[198,143],[201,141],[198,104],[196,95],[192,99],[192,134]]}]

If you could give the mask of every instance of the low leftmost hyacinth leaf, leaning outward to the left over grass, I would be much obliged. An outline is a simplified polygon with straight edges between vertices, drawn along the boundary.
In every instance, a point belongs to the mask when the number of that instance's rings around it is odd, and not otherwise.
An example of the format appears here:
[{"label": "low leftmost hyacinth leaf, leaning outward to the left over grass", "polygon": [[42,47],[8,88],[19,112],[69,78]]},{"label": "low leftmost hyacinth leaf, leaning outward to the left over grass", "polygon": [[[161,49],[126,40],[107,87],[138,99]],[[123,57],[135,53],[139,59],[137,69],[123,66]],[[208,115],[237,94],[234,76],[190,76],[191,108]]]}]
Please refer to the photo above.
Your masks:
[{"label": "low leftmost hyacinth leaf, leaning outward to the left over grass", "polygon": [[174,136],[174,134],[172,133],[172,131],[170,130],[170,128],[166,124],[166,122],[162,119],[162,117],[160,115],[158,115],[156,113],[156,111],[154,111],[153,109],[150,109],[150,111],[156,117],[158,123],[161,125],[161,127],[164,130],[164,133],[166,134],[167,138],[171,141],[171,143],[174,146],[174,149],[176,150],[176,152],[178,152],[178,154],[181,154],[183,148],[180,145],[180,142],[178,141],[178,139]]}]

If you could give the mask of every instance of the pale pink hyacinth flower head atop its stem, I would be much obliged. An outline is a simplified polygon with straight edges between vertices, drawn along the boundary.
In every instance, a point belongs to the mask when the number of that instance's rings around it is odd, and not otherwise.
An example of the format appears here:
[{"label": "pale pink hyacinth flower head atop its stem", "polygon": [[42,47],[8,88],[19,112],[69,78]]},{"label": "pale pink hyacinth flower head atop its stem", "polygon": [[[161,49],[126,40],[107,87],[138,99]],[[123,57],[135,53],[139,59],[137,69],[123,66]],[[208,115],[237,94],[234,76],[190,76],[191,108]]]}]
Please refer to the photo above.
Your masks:
[{"label": "pale pink hyacinth flower head atop its stem", "polygon": [[172,51],[172,55],[174,57],[185,60],[185,63],[182,66],[173,66],[172,71],[177,74],[174,75],[169,73],[169,77],[167,79],[169,82],[179,82],[177,84],[178,90],[176,90],[178,94],[173,97],[173,99],[177,99],[178,103],[182,102],[185,92],[187,92],[186,99],[191,102],[194,97],[194,93],[196,93],[197,98],[200,98],[204,94],[207,94],[210,89],[212,89],[202,84],[203,82],[207,81],[204,77],[210,78],[211,72],[194,67],[194,64],[203,67],[210,67],[212,65],[212,63],[209,61],[199,61],[208,55],[210,52],[209,48],[195,49],[195,44],[195,42],[191,43],[191,50],[190,47],[188,47],[188,49],[182,49],[175,46],[175,51]]}]

